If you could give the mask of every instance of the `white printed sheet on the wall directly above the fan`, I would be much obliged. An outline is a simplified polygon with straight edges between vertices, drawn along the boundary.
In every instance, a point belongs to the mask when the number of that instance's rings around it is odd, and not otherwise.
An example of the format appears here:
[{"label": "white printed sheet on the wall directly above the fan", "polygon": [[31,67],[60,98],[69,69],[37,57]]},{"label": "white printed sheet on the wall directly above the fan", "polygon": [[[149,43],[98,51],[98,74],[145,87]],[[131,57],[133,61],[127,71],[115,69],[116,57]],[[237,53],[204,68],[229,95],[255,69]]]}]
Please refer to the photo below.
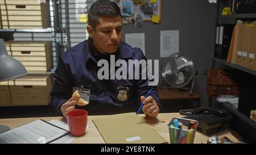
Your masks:
[{"label": "white printed sheet on the wall directly above the fan", "polygon": [[179,53],[179,30],[160,31],[160,57]]}]

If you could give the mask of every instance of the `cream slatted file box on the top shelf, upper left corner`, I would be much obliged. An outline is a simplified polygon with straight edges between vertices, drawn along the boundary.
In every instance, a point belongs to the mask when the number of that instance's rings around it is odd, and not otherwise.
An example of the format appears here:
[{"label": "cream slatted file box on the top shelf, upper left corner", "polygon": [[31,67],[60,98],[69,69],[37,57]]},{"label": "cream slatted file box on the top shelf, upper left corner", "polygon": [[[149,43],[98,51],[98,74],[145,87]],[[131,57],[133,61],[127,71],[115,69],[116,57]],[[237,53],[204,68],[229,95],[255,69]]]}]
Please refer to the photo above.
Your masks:
[{"label": "cream slatted file box on the top shelf, upper left corner", "polygon": [[51,27],[49,1],[0,0],[2,28]]}]

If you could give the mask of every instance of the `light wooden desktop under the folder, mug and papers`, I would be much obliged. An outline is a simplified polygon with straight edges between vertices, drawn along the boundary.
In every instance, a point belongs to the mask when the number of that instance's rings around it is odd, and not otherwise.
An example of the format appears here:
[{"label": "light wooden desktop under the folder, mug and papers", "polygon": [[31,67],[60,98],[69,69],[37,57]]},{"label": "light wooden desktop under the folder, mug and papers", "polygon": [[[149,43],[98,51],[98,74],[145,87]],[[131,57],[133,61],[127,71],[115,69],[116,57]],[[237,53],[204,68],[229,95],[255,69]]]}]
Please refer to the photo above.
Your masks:
[{"label": "light wooden desktop under the folder, mug and papers", "polygon": [[[162,113],[159,114],[156,118],[148,118],[144,114],[139,115],[141,118],[144,119],[146,123],[151,125],[152,128],[155,129],[156,132],[158,132],[161,136],[164,137],[169,143],[170,143],[170,137],[169,137],[169,131],[167,124],[170,122],[170,120],[174,117],[182,117],[179,115],[179,113]],[[86,133],[84,136],[77,137],[73,143],[105,143],[104,139],[101,137],[100,132],[98,132],[98,129],[93,124],[92,119],[96,118],[97,116],[88,116],[88,125],[90,127],[86,130]],[[1,125],[7,125],[10,128],[15,128],[20,125],[32,122],[36,119],[43,119],[43,120],[63,120],[66,121],[63,117],[48,117],[48,118],[17,118],[17,119],[0,119]],[[218,137],[227,136],[230,140],[234,142],[238,142],[236,137],[234,137],[230,132],[228,131],[222,131],[214,134]],[[213,135],[210,135],[213,136]],[[196,132],[194,143],[207,143],[207,140],[209,139],[208,136],[205,136],[203,133]]]}]

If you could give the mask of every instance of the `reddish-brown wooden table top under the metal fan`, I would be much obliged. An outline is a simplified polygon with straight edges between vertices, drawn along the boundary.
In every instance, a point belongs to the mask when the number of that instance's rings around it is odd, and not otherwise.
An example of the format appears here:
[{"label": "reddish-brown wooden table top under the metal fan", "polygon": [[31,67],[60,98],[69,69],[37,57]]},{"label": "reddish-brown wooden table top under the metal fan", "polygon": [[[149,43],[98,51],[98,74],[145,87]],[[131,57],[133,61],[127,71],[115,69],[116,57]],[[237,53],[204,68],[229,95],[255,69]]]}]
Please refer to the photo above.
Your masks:
[{"label": "reddish-brown wooden table top under the metal fan", "polygon": [[187,90],[181,89],[158,89],[160,100],[172,100],[172,99],[183,99],[183,100],[195,100],[196,107],[200,107],[200,95],[193,94],[189,95]]}]

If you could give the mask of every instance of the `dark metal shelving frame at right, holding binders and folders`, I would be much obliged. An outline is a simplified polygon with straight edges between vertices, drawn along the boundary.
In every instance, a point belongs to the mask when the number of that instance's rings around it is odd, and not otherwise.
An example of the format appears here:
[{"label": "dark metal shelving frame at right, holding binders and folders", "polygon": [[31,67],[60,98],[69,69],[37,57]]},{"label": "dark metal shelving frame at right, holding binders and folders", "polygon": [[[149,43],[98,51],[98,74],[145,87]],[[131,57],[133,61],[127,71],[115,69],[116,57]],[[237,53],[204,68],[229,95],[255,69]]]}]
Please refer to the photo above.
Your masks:
[{"label": "dark metal shelving frame at right, holding binders and folders", "polygon": [[[229,3],[229,1],[218,1],[218,13],[217,13],[217,18],[216,18],[216,25],[220,24],[236,24],[238,19],[242,19],[242,20],[256,20],[256,14],[232,14],[232,15],[220,15],[221,14],[221,9],[223,7],[226,7],[225,3]],[[224,66],[228,66],[230,68],[233,69],[237,69],[241,71],[241,74],[249,74],[250,77],[255,77],[256,76],[256,71],[249,69],[249,68],[245,68],[243,66],[237,65],[237,64],[232,64],[230,62],[227,62],[226,60],[223,60],[221,58],[217,58],[214,57],[214,53],[215,53],[215,49],[212,55],[212,68],[216,68],[216,64],[222,64]],[[256,96],[256,93],[255,93]],[[214,100],[216,101],[216,100]],[[209,98],[209,106],[212,106],[212,102],[213,99]],[[216,101],[217,102],[217,101]],[[230,113],[232,114],[232,127],[234,129],[236,129],[238,132],[240,132],[244,137],[246,137],[247,139],[249,139],[250,141],[256,141],[256,137],[252,137],[250,135],[249,131],[255,131],[256,132],[256,124],[250,120],[249,118],[247,118],[245,115],[243,115],[240,111],[237,110],[237,108],[233,107],[232,104],[230,103],[219,103],[217,102],[221,107],[227,109],[230,111]],[[238,103],[241,104],[241,103]]]}]

